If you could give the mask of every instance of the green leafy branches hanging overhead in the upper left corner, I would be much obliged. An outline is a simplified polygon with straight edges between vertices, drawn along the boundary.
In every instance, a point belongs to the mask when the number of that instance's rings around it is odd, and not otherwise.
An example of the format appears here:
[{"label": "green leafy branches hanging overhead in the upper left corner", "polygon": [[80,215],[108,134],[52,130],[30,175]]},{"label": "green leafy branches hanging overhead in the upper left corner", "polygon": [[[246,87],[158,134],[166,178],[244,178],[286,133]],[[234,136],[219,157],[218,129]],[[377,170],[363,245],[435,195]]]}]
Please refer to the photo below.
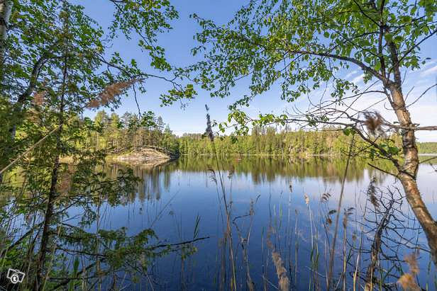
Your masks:
[{"label": "green leafy branches hanging overhead in the upper left corner", "polygon": [[[167,62],[163,47],[157,45],[157,35],[170,30],[170,21],[178,17],[170,1],[107,1],[114,7],[107,29],[87,16],[83,6],[67,3],[67,33],[62,22],[65,1],[13,1],[8,37],[2,44],[4,97],[16,101],[19,108],[28,107],[33,93],[46,91],[46,98],[56,98],[56,80],[65,55],[71,68],[67,89],[76,102],[88,103],[109,84],[149,78],[170,84],[171,96],[185,96],[185,91],[192,96],[192,89],[171,76],[177,71]],[[123,59],[118,52],[110,55],[119,37],[138,39],[140,50],[149,55],[149,66],[140,69],[135,59]],[[146,83],[139,89],[145,92]],[[114,100],[117,104],[118,99]]]}]

